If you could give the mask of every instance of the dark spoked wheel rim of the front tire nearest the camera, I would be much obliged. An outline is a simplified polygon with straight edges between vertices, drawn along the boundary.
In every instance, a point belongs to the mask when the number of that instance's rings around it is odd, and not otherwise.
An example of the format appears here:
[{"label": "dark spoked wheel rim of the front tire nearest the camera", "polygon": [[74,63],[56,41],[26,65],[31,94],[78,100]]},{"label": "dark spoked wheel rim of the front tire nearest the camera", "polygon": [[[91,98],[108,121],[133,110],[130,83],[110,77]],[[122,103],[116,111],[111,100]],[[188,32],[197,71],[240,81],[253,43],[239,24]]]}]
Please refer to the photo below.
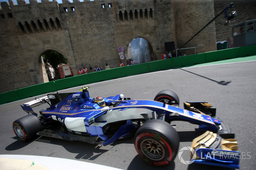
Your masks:
[{"label": "dark spoked wheel rim of the front tire nearest the camera", "polygon": [[163,145],[154,139],[144,139],[140,144],[140,148],[142,148],[143,154],[149,159],[161,160],[164,158],[165,151]]}]

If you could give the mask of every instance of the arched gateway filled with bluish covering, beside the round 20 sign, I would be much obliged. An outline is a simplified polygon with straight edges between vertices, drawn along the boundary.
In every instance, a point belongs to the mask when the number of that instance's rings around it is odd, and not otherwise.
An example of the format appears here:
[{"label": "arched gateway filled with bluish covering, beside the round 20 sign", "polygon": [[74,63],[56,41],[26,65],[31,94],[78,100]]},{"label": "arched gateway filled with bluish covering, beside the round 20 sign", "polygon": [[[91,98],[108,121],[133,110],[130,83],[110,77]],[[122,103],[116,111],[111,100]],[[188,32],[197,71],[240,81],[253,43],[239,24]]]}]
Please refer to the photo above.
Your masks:
[{"label": "arched gateway filled with bluish covering, beside the round 20 sign", "polygon": [[133,59],[136,64],[139,64],[154,61],[154,58],[153,48],[148,40],[137,37],[131,41],[128,47],[129,63],[131,59]]}]

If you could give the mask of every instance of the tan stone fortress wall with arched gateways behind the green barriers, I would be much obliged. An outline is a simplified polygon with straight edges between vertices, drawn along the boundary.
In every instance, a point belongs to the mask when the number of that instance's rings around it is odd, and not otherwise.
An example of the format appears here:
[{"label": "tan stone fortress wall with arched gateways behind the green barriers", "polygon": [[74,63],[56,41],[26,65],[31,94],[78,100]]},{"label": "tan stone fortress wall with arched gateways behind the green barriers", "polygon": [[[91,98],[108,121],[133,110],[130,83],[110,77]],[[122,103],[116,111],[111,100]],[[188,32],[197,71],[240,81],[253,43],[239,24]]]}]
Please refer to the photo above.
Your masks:
[{"label": "tan stone fortress wall with arched gateways behind the green barriers", "polygon": [[[11,0],[9,4],[1,2],[0,92],[48,81],[43,76],[46,74],[41,58],[42,53],[47,49],[63,54],[73,68],[74,75],[77,75],[77,68],[84,65],[87,68],[89,65],[92,68],[95,65],[104,68],[105,63],[110,63],[111,68],[117,67],[120,61],[118,47],[124,47],[124,55],[127,56],[129,43],[137,37],[148,40],[151,45],[150,53],[156,55],[156,60],[161,60],[165,51],[165,42],[174,41],[175,48],[179,48],[208,23],[215,16],[216,11],[221,11],[215,1],[218,2],[218,0],[84,0],[84,2],[73,0],[73,3],[62,0],[62,4],[49,0],[42,0],[41,3],[29,0],[30,4],[26,4],[24,0],[17,0],[18,4],[13,4]],[[218,19],[220,23],[225,22],[222,16]],[[218,26],[213,22],[183,48],[196,47],[197,53],[216,50],[216,37],[222,39],[220,33],[216,32],[217,29]],[[151,61],[154,60],[155,57],[152,57]],[[126,65],[126,62],[124,64]]]}]

